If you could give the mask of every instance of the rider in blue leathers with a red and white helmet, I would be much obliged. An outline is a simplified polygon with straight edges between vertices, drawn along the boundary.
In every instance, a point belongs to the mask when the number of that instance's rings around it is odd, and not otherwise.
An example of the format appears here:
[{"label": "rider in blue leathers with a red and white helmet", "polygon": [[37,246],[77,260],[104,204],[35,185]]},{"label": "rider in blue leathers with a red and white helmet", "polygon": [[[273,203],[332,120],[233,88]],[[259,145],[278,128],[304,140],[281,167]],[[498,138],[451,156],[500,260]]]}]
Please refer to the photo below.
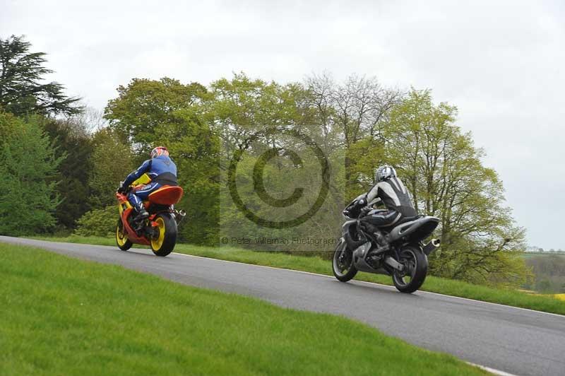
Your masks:
[{"label": "rider in blue leathers with a red and white helmet", "polygon": [[139,188],[131,189],[128,194],[128,200],[136,209],[137,216],[134,221],[142,221],[148,218],[149,213],[143,207],[143,200],[155,192],[163,185],[177,186],[177,165],[169,158],[169,151],[165,146],[157,146],[150,153],[150,159],[145,160],[139,168],[126,177],[126,180],[119,187],[118,192],[127,191],[129,184],[139,179],[141,175],[147,174],[151,182]]}]

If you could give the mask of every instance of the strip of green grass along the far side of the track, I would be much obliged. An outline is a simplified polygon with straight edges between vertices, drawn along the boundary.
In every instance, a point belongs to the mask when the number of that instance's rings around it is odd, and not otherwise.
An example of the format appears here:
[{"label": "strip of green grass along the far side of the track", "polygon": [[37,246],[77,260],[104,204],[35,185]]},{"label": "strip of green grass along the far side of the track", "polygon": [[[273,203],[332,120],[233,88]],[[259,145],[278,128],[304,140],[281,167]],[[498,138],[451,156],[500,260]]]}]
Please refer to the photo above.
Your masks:
[{"label": "strip of green grass along the far side of the track", "polygon": [[[113,238],[105,237],[78,237],[73,235],[71,237],[41,237],[40,239],[83,244],[115,245]],[[256,252],[234,247],[199,247],[186,244],[179,244],[174,250],[179,253],[194,254],[195,256],[210,257],[213,259],[310,271],[312,273],[326,274],[329,276],[332,275],[331,262],[321,259],[320,257],[293,256],[292,254],[275,252]],[[383,283],[386,285],[392,284],[390,277],[377,274],[359,273],[355,279]],[[565,315],[565,302],[554,298],[552,295],[530,295],[517,290],[473,285],[472,283],[434,276],[428,276],[426,278],[421,290]]]}]

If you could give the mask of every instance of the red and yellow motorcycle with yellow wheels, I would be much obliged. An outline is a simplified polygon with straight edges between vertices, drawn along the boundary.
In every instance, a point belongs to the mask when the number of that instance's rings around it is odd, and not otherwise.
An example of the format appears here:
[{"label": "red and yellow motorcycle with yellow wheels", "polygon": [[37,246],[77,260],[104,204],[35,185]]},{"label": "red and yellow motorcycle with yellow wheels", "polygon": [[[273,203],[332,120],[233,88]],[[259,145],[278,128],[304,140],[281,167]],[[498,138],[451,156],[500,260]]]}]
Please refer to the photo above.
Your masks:
[{"label": "red and yellow motorcycle with yellow wheels", "polygon": [[[143,184],[130,189],[140,189]],[[167,256],[177,243],[177,226],[186,213],[174,208],[182,195],[181,187],[165,185],[151,193],[147,201],[143,201],[149,218],[142,223],[133,221],[136,211],[125,194],[116,193],[119,207],[119,219],[116,225],[116,242],[122,251],[130,249],[133,244],[150,245],[157,256]]]}]

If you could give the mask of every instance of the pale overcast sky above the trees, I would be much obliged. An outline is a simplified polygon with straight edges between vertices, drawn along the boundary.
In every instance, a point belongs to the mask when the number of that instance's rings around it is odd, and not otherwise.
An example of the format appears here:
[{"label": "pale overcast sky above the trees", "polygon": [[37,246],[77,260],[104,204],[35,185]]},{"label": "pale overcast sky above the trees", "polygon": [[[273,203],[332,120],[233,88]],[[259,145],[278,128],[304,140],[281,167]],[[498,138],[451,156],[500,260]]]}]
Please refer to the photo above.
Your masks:
[{"label": "pale overcast sky above the trees", "polygon": [[[468,3],[468,4],[463,4]],[[323,70],[431,88],[487,151],[528,242],[565,249],[565,1],[0,1],[52,79],[102,109],[133,77]]]}]

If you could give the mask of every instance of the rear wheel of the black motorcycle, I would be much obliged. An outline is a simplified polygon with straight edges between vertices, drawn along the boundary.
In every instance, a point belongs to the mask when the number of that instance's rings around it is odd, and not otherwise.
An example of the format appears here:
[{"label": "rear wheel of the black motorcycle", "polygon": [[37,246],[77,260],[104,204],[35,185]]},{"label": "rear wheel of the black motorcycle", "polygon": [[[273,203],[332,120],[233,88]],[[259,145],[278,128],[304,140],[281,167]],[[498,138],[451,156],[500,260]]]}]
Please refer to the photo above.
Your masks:
[{"label": "rear wheel of the black motorcycle", "polygon": [[428,258],[420,247],[410,245],[400,250],[398,262],[404,265],[404,271],[394,271],[394,286],[401,293],[413,293],[426,280]]}]

